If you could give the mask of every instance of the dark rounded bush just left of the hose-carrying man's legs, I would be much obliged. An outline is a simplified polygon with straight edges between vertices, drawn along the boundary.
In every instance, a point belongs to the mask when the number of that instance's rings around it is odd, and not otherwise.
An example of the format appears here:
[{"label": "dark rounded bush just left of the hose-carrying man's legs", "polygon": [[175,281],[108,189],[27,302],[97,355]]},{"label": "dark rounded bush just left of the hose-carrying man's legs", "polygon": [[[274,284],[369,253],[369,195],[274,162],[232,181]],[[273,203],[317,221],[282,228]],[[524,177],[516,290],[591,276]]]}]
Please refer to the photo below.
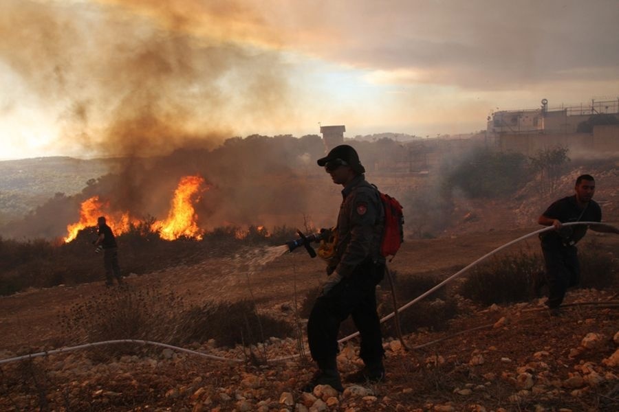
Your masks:
[{"label": "dark rounded bush just left of the hose-carrying man's legs", "polygon": [[494,258],[473,268],[460,294],[486,306],[533,299],[534,284],[543,273],[540,255],[523,252]]}]

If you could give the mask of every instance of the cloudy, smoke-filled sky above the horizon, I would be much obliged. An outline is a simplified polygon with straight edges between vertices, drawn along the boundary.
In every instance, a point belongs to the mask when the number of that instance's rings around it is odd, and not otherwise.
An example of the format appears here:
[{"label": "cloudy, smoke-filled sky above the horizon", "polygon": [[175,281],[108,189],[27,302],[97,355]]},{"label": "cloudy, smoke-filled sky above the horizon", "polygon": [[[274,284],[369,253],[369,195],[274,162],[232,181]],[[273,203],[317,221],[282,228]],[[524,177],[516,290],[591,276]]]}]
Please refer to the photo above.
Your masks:
[{"label": "cloudy, smoke-filled sky above the horizon", "polygon": [[0,0],[0,159],[486,128],[619,98],[616,0]]}]

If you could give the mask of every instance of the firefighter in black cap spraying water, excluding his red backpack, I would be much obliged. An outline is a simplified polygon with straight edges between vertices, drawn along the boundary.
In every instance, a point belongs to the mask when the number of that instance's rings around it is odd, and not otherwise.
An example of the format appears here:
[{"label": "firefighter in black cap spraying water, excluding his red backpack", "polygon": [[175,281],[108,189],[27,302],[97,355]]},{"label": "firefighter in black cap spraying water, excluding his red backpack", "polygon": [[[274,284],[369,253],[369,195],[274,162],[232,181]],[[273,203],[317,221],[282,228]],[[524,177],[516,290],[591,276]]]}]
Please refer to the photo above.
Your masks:
[{"label": "firefighter in black cap spraying water, excluding his red backpack", "polygon": [[360,332],[360,358],[365,368],[348,380],[378,382],[384,378],[384,350],[376,311],[376,285],[384,275],[384,258],[380,255],[384,211],[378,190],[365,181],[365,168],[354,148],[336,146],[318,160],[318,165],[324,166],[333,182],[344,189],[334,229],[334,256],[327,264],[329,279],[307,322],[310,352],[319,370],[303,390],[330,385],[343,391],[336,356],[340,323],[349,315]]}]

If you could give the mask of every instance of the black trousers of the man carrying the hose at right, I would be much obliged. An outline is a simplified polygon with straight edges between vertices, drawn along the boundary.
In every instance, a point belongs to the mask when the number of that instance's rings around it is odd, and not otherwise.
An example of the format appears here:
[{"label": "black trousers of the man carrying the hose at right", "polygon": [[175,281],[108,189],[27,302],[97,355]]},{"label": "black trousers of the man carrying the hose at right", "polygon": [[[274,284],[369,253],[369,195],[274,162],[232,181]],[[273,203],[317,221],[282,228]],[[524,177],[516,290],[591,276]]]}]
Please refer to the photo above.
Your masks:
[{"label": "black trousers of the man carrying the hose at right", "polygon": [[546,264],[549,308],[558,308],[563,302],[567,288],[580,283],[578,249],[574,246],[542,246]]}]

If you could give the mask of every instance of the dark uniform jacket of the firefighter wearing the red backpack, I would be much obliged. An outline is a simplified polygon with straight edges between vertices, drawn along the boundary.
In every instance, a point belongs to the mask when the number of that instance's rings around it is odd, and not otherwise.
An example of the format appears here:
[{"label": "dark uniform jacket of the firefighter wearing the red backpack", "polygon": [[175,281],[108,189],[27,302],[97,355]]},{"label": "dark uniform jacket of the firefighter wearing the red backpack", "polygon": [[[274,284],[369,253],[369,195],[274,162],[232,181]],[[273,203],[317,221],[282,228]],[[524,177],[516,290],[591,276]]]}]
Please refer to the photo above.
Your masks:
[{"label": "dark uniform jacket of the firefighter wearing the red backpack", "polygon": [[348,276],[362,262],[384,262],[380,255],[384,210],[378,190],[362,174],[344,187],[342,196],[336,258],[329,266]]}]

